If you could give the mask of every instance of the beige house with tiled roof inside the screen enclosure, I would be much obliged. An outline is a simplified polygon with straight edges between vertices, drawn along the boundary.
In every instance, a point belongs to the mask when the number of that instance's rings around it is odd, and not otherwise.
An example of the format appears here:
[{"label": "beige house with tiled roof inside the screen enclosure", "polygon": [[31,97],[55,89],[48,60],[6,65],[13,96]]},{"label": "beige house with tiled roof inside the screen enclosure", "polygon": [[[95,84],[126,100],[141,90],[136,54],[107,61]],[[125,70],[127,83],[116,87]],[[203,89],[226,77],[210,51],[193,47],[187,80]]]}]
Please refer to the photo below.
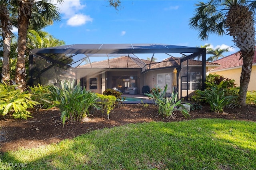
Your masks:
[{"label": "beige house with tiled roof inside the screen enclosure", "polygon": [[[206,72],[219,66],[216,63],[206,62]],[[173,71],[176,68],[178,70],[176,81],[182,80],[181,85],[176,85],[176,88],[178,86],[182,89],[181,97],[190,97],[194,90],[200,88],[202,61],[188,60],[188,76],[186,76],[187,64],[183,64],[182,67],[183,71],[180,74],[180,58],[176,57],[150,63],[148,60],[123,56],[81,65],[77,67],[77,75],[82,86],[96,93],[102,93],[109,88],[116,88],[126,93],[128,87],[136,87],[138,94],[142,94],[142,87],[145,85],[150,89],[156,85],[164,89],[166,84],[167,93],[171,93],[175,81]],[[106,82],[103,82],[104,80]]]}]

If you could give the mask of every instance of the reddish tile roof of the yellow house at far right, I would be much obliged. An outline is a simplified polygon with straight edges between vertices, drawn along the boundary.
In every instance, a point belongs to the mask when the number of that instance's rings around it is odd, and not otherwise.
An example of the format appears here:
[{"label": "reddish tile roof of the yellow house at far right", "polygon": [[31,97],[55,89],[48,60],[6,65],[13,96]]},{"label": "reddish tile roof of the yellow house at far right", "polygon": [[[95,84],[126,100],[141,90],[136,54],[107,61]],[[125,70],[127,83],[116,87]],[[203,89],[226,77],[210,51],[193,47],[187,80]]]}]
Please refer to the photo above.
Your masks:
[{"label": "reddish tile roof of the yellow house at far right", "polygon": [[[215,71],[215,70],[229,69],[229,68],[232,68],[232,67],[242,66],[243,59],[241,58],[239,60],[240,56],[241,56],[241,53],[238,51],[234,54],[228,55],[226,57],[223,57],[221,59],[218,59],[218,60],[214,61],[214,63],[219,63],[221,66],[212,69],[212,71],[213,70]],[[252,63],[256,63],[256,51],[254,52]]]}]

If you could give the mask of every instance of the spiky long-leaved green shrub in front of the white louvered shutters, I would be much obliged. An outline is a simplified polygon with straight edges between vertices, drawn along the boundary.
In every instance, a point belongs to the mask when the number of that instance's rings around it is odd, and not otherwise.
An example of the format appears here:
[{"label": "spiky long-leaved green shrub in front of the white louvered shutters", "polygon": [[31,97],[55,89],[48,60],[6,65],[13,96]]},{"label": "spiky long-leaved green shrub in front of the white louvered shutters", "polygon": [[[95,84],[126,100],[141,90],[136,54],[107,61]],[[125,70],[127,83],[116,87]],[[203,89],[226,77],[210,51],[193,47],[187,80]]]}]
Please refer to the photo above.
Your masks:
[{"label": "spiky long-leaved green shrub in front of the white louvered shutters", "polygon": [[[153,88],[151,94],[145,94],[146,96],[154,99],[158,107],[159,115],[162,115],[163,117],[170,117],[174,114],[174,111],[180,111],[184,117],[189,116],[188,111],[181,104],[181,100],[178,100],[178,93],[174,93],[173,90],[169,98],[166,97],[167,85],[165,86],[164,90],[159,89],[160,87]],[[190,105],[189,103],[186,104]]]}]

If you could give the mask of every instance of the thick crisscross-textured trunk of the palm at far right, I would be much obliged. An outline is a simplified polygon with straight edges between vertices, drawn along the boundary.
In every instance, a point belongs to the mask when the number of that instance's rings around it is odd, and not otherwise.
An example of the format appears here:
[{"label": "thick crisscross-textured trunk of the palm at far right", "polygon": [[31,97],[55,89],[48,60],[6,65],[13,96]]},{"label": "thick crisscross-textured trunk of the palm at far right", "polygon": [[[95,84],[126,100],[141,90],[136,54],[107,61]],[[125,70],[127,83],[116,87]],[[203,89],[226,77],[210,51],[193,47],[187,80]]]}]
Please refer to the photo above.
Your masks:
[{"label": "thick crisscross-textured trunk of the palm at far right", "polygon": [[226,26],[228,27],[228,34],[233,36],[233,41],[242,54],[243,64],[240,76],[239,100],[240,105],[245,106],[256,44],[253,13],[246,6],[233,6],[228,12]]}]

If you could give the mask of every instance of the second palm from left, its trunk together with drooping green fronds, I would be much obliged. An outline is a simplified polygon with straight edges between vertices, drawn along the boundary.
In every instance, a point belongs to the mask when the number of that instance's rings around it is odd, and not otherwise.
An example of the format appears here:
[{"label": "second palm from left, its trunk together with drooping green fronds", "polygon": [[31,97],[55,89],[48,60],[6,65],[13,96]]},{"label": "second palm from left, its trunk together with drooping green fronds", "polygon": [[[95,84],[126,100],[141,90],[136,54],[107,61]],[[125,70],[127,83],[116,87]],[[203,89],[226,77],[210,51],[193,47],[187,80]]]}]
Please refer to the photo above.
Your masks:
[{"label": "second palm from left, its trunk together with drooping green fronds", "polygon": [[[28,33],[28,26],[30,18],[35,12],[38,14],[37,19],[43,22],[37,23],[51,23],[54,20],[60,20],[60,13],[58,8],[51,4],[52,0],[42,0],[35,2],[34,0],[18,0],[18,58],[16,63],[16,83],[21,90],[26,88],[26,69],[25,69],[25,52],[26,52],[26,38]],[[57,3],[62,3],[63,0],[57,0]],[[33,10],[38,10],[34,11]],[[41,26],[40,24],[38,24]],[[46,24],[43,24],[46,26]]]}]

